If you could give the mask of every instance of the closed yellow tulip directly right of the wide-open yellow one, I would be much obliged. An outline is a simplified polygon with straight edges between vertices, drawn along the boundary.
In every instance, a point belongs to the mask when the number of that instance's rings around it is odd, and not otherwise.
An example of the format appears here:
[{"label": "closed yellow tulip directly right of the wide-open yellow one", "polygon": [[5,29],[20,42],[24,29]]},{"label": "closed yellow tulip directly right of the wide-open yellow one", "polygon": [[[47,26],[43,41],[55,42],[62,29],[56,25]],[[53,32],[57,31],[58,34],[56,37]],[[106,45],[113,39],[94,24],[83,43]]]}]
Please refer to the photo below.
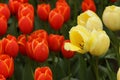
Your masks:
[{"label": "closed yellow tulip directly right of the wide-open yellow one", "polygon": [[88,40],[88,49],[90,54],[95,56],[103,55],[107,52],[110,45],[110,39],[105,31],[93,30]]}]

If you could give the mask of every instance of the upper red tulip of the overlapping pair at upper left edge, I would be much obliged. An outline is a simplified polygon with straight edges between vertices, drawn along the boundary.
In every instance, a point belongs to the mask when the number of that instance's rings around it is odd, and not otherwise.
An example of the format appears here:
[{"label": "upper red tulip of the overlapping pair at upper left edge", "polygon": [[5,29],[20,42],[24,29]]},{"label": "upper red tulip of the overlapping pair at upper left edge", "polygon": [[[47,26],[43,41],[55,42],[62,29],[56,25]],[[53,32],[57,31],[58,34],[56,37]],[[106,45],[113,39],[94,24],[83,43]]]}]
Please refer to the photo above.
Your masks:
[{"label": "upper red tulip of the overlapping pair at upper left edge", "polygon": [[0,14],[3,14],[7,20],[9,19],[10,10],[9,10],[7,4],[0,3]]}]

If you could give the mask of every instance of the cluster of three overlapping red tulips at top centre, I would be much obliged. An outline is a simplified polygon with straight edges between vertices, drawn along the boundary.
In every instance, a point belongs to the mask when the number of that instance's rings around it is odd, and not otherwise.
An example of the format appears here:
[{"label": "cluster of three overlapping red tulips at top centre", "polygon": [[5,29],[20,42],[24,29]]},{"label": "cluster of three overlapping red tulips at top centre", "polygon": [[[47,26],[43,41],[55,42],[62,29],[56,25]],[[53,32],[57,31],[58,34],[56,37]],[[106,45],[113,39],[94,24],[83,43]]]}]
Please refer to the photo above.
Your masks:
[{"label": "cluster of three overlapping red tulips at top centre", "polygon": [[49,21],[54,30],[59,30],[70,18],[70,6],[65,0],[58,0],[52,10],[49,4],[39,4],[37,14],[41,20]]}]

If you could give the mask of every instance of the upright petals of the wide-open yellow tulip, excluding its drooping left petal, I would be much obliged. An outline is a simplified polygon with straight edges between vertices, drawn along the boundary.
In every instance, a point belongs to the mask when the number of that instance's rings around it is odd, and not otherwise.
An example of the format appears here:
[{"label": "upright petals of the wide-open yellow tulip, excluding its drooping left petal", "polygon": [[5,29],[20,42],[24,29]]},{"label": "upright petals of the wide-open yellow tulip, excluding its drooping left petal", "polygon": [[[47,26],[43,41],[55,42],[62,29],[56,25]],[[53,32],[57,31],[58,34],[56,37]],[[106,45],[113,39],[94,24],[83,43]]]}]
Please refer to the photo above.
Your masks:
[{"label": "upright petals of the wide-open yellow tulip, excluding its drooping left petal", "polygon": [[72,27],[69,32],[71,44],[75,45],[76,47],[79,47],[81,49],[80,53],[85,53],[88,51],[86,48],[86,43],[89,38],[89,34],[89,31],[81,25]]}]

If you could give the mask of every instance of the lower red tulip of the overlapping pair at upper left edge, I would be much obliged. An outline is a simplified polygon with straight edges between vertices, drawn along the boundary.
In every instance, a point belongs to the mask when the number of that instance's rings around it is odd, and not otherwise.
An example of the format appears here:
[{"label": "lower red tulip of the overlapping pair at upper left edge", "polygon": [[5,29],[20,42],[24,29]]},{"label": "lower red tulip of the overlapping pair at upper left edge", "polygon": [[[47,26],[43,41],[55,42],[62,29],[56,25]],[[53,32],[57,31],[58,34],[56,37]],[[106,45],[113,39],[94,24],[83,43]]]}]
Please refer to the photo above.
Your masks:
[{"label": "lower red tulip of the overlapping pair at upper left edge", "polygon": [[4,15],[0,14],[0,36],[7,32],[7,20]]}]

